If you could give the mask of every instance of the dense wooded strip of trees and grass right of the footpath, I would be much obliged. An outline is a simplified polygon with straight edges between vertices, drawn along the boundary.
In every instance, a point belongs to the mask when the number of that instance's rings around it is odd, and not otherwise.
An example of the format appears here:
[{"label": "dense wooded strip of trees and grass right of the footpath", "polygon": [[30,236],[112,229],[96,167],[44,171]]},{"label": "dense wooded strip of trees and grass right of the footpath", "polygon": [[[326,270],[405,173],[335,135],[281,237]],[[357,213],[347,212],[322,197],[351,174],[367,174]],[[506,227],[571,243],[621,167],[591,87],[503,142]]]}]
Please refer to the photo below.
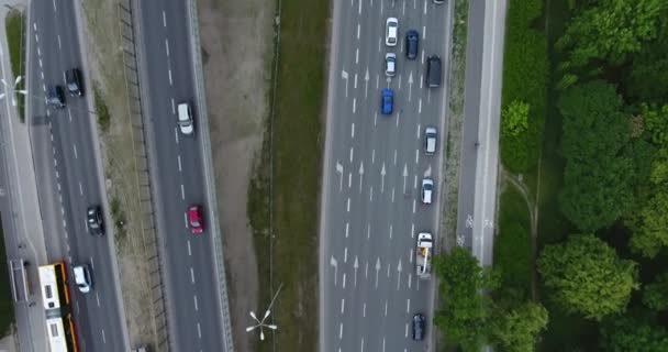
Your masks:
[{"label": "dense wooded strip of trees and grass right of the footpath", "polygon": [[[547,310],[539,343],[492,332],[501,350],[667,350],[667,15],[663,0],[509,2],[494,271],[523,272],[514,305]],[[537,227],[509,227],[519,212]]]}]

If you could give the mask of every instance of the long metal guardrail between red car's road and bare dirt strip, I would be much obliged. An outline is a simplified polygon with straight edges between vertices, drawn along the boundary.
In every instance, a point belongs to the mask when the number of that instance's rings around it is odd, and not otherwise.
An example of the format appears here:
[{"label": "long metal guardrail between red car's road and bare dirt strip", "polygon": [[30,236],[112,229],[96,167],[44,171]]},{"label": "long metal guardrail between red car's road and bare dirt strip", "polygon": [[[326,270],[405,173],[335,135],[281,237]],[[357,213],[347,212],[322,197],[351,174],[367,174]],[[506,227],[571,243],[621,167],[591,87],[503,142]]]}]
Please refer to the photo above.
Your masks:
[{"label": "long metal guardrail between red car's road and bare dirt strip", "polygon": [[197,3],[188,0],[186,6],[188,12],[188,28],[190,30],[190,53],[192,55],[192,70],[194,74],[196,103],[200,119],[200,135],[202,141],[202,160],[204,164],[204,184],[207,187],[207,200],[209,202],[209,217],[213,230],[214,263],[219,283],[219,300],[223,323],[223,344],[225,352],[234,351],[232,341],[232,324],[230,322],[230,307],[227,301],[227,284],[225,280],[225,261],[223,257],[223,237],[218,217],[218,199],[215,196],[215,180],[213,178],[213,160],[211,154],[211,138],[209,131],[209,113],[207,111],[207,98],[204,95],[204,74],[202,68],[202,53],[200,44],[199,21],[197,18]]}]

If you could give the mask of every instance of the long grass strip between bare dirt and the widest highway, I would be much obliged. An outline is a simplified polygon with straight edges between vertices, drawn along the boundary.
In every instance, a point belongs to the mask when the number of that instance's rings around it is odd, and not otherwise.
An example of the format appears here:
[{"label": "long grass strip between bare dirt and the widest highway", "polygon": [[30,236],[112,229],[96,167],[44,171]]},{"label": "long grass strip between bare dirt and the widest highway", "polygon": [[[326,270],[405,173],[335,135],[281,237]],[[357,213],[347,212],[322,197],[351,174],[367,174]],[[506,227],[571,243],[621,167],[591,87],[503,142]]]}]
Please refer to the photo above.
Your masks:
[{"label": "long grass strip between bare dirt and the widest highway", "polygon": [[[319,151],[329,4],[287,1],[280,13],[272,130],[252,184],[248,213],[258,260],[259,306],[266,307],[271,298],[269,280],[274,290],[283,285],[272,310],[279,327],[275,343],[285,351],[315,351]],[[257,350],[271,351],[272,344],[258,343]]]}]

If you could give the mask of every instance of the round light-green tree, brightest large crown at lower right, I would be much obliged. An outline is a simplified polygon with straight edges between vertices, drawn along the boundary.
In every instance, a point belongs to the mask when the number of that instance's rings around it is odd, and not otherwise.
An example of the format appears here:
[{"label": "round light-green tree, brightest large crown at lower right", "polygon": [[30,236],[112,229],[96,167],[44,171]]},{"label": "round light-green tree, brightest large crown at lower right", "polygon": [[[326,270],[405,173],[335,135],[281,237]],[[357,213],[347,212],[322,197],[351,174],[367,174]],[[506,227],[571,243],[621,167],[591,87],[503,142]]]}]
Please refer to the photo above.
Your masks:
[{"label": "round light-green tree, brightest large crown at lower right", "polygon": [[638,289],[636,263],[620,260],[593,234],[545,246],[538,272],[559,306],[593,320],[623,311],[631,293]]}]

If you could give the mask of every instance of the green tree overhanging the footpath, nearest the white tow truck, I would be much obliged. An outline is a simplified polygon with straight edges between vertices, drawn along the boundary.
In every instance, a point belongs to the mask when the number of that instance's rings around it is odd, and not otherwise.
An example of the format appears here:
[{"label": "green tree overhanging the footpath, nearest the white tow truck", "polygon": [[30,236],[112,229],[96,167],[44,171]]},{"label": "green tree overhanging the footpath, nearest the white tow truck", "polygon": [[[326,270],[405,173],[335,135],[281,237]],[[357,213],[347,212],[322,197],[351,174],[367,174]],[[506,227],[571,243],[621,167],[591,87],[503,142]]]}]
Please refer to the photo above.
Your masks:
[{"label": "green tree overhanging the footpath, nearest the white tow truck", "polygon": [[487,340],[491,300],[482,290],[498,285],[497,275],[483,270],[468,251],[455,248],[434,257],[442,297],[434,323],[448,341],[464,351],[480,351]]}]

